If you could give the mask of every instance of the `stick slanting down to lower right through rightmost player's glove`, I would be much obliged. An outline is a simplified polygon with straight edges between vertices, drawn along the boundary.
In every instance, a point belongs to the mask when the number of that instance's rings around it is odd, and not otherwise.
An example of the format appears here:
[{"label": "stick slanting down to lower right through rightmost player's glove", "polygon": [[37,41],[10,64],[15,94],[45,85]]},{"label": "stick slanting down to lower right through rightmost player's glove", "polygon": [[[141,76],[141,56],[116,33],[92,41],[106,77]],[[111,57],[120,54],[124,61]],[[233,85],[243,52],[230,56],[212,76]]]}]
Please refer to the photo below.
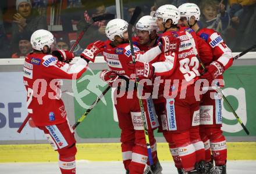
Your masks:
[{"label": "stick slanting down to lower right through rightmost player's glove", "polygon": [[[191,34],[189,34],[188,32],[186,32],[187,35],[189,35],[190,40],[191,40]],[[204,63],[202,62],[202,60],[200,59],[200,57],[198,56],[197,50],[195,49],[195,43],[194,41],[191,42],[193,50],[194,50],[194,54],[195,57],[197,57],[200,65],[202,66],[202,69],[204,70],[204,72],[207,72],[207,68],[205,68]],[[248,50],[248,49],[247,49]],[[248,52],[248,51],[247,51]],[[245,53],[244,53],[245,54]],[[219,93],[219,95],[222,96],[223,100],[227,103],[227,106],[229,106],[230,110],[232,111],[234,117],[236,117],[237,121],[239,122],[239,124],[243,127],[244,131],[246,132],[247,135],[250,134],[250,132],[248,131],[248,129],[246,128],[246,126],[243,124],[243,122],[241,121],[240,117],[236,114],[236,111],[234,111],[234,108],[231,106],[231,104],[229,103],[229,101],[227,100],[226,96],[223,94],[222,89],[219,88],[219,86],[217,84],[214,84],[217,92]]]}]

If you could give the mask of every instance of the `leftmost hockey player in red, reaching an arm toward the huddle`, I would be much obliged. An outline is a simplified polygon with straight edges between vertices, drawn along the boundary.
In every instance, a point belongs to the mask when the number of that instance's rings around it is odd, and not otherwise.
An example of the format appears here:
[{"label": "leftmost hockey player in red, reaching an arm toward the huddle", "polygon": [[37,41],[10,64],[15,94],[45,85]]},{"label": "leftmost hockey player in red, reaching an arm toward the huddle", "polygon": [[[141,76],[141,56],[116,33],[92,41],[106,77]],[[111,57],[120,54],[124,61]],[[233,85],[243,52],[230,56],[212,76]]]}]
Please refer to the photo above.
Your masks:
[{"label": "leftmost hockey player in red, reaching an arm toward the huddle", "polygon": [[98,41],[87,46],[81,54],[83,59],[67,64],[59,60],[72,59],[73,53],[55,50],[51,55],[53,43],[54,35],[47,30],[37,30],[31,35],[33,52],[27,55],[23,67],[27,110],[35,126],[44,131],[48,142],[58,151],[61,173],[73,174],[76,173],[76,140],[61,100],[60,79],[79,78],[104,44]]}]

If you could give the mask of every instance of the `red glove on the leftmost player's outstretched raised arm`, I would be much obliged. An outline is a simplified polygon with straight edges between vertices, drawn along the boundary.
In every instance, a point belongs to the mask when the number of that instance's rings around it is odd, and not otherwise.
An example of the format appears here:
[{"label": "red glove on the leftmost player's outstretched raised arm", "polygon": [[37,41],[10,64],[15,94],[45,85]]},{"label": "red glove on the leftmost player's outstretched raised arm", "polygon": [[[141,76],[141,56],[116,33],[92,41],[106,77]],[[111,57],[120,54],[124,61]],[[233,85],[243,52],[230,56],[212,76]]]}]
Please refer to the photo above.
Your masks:
[{"label": "red glove on the leftmost player's outstretched raised arm", "polygon": [[87,46],[87,48],[81,53],[80,57],[89,61],[95,60],[95,56],[104,50],[104,42],[96,41]]}]

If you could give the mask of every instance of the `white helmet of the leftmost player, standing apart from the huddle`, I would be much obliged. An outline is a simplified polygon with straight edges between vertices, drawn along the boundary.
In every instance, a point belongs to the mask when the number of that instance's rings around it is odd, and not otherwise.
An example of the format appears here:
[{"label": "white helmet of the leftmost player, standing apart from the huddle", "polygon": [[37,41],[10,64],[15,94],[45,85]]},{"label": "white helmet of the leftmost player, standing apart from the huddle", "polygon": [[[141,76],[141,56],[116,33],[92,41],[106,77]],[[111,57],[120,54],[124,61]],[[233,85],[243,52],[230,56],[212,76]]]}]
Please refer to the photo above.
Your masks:
[{"label": "white helmet of the leftmost player, standing apart from the huddle", "polygon": [[42,50],[45,45],[51,49],[54,41],[54,35],[47,30],[37,30],[33,32],[30,38],[32,48],[35,50]]}]

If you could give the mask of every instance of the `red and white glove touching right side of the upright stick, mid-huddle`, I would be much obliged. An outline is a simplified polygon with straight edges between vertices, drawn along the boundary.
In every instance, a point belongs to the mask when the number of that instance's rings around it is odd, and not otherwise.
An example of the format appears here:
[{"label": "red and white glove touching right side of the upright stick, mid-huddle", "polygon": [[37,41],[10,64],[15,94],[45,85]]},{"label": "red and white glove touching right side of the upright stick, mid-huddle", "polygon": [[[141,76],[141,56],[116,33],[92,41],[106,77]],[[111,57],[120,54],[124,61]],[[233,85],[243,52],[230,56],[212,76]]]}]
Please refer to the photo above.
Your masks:
[{"label": "red and white glove touching right side of the upright stick, mid-huddle", "polygon": [[136,63],[129,63],[128,69],[133,72],[133,74],[141,79],[151,79],[154,75],[154,67],[148,62],[136,61]]}]

